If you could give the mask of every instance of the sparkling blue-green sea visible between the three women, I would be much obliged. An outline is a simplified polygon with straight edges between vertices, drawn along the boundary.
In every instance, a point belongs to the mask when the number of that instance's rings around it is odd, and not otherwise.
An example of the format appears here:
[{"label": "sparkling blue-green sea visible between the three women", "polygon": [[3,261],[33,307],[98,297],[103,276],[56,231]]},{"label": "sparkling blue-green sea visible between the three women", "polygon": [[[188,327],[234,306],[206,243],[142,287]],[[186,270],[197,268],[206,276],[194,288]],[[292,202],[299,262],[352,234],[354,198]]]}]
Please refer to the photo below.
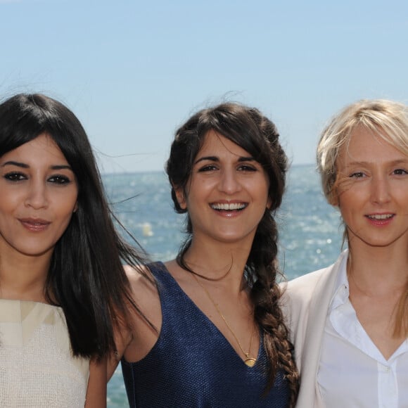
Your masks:
[{"label": "sparkling blue-green sea visible between the three women", "polygon": [[[174,212],[166,174],[104,174],[103,184],[115,215],[151,260],[174,258],[185,238],[185,216]],[[326,203],[314,165],[291,167],[276,221],[285,279],[328,266],[342,250],[340,215]],[[108,408],[117,407],[129,407],[120,366],[108,383]]]}]

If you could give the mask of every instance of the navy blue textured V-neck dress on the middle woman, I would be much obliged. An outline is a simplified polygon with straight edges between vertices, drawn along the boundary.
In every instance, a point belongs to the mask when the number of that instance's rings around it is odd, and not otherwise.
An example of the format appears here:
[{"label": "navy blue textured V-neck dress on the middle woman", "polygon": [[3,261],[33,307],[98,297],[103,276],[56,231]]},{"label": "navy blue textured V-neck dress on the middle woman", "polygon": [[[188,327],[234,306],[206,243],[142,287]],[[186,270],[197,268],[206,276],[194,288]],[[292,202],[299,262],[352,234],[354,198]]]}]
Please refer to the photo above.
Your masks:
[{"label": "navy blue textured V-neck dress on the middle woman", "polygon": [[255,366],[246,366],[165,265],[149,267],[158,281],[162,327],[144,359],[122,359],[130,407],[288,407],[288,383],[281,371],[274,388],[262,397],[267,364],[262,339]]}]

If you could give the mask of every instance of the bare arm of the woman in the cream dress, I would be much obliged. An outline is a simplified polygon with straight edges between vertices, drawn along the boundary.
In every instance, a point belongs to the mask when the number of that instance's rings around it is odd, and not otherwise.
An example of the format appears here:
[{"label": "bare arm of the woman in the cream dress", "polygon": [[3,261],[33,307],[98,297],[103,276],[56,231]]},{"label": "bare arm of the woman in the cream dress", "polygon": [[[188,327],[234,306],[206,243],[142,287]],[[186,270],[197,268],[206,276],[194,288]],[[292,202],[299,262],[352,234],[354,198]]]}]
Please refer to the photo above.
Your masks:
[{"label": "bare arm of the woman in the cream dress", "polygon": [[100,362],[91,359],[85,408],[106,407],[106,383],[106,359]]}]

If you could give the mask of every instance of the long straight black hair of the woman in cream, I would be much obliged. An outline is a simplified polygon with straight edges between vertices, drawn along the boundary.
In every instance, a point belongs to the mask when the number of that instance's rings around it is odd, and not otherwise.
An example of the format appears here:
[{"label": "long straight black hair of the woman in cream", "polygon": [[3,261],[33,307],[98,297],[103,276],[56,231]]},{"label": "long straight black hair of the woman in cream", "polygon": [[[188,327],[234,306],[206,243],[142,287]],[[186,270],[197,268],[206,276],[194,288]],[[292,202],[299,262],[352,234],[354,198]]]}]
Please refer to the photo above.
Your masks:
[{"label": "long straight black hair of the woman in cream", "polygon": [[0,156],[40,134],[58,145],[78,185],[77,211],[51,257],[46,300],[63,308],[74,355],[103,357],[115,350],[113,326],[134,305],[121,260],[137,267],[144,254],[117,234],[87,134],[71,110],[42,94],[1,103]]}]

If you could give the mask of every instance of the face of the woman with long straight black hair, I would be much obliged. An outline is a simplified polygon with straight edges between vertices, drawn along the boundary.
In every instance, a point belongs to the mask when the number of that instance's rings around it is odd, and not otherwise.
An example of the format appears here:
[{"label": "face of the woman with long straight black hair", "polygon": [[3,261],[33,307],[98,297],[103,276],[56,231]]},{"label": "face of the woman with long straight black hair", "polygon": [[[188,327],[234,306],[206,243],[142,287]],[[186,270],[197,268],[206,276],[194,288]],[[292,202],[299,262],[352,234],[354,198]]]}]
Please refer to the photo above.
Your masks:
[{"label": "face of the woman with long straight black hair", "polygon": [[0,257],[51,257],[77,205],[77,182],[51,137],[36,139],[0,158]]}]

